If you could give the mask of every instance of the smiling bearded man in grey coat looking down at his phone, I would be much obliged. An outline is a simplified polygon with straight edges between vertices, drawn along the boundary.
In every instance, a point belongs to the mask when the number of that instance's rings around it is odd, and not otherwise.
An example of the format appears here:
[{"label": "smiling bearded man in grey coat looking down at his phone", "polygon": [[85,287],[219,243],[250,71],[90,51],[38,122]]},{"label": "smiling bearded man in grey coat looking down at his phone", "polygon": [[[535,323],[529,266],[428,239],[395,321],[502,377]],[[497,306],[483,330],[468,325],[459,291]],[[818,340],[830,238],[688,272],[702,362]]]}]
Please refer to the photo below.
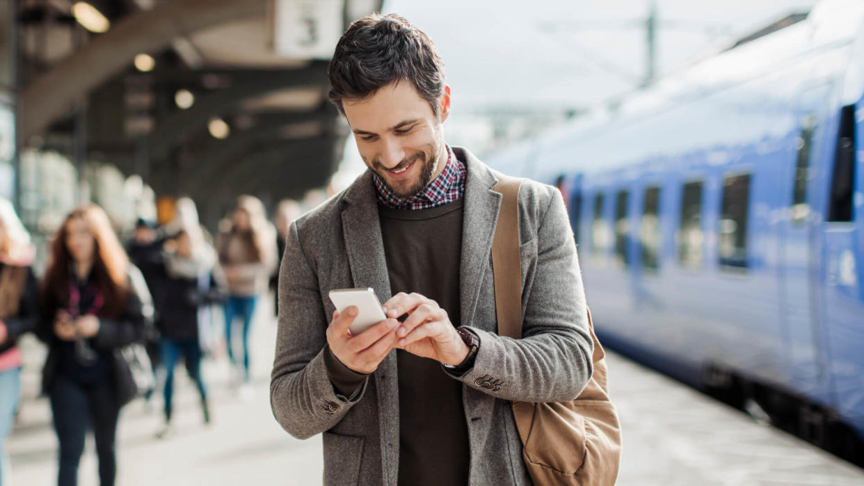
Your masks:
[{"label": "smiling bearded man in grey coat looking down at his phone", "polygon": [[[500,338],[501,197],[489,167],[444,142],[450,89],[435,45],[399,16],[366,16],[329,75],[369,170],[291,225],[276,420],[298,438],[324,432],[327,484],[530,484],[510,401],[573,400],[592,373],[560,193],[522,186],[524,338]],[[374,288],[388,319],[351,335],[356,308],[327,298],[346,287]]]}]

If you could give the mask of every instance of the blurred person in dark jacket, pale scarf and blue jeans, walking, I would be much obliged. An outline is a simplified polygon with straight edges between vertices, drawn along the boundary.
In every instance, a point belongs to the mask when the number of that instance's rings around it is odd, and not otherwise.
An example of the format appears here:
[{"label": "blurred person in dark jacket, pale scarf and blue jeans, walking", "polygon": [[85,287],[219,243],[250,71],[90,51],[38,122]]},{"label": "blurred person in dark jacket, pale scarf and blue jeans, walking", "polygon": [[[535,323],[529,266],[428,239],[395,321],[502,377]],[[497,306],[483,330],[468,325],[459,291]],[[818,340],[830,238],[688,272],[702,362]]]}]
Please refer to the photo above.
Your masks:
[{"label": "blurred person in dark jacket, pale scarf and blue jeans, walking", "polygon": [[213,249],[203,238],[192,237],[189,230],[180,230],[165,244],[168,280],[160,309],[162,319],[159,319],[165,365],[165,424],[156,432],[160,439],[172,430],[174,369],[181,356],[189,378],[198,388],[204,422],[210,423],[206,385],[201,376],[199,308],[213,303],[210,282],[215,260]]}]

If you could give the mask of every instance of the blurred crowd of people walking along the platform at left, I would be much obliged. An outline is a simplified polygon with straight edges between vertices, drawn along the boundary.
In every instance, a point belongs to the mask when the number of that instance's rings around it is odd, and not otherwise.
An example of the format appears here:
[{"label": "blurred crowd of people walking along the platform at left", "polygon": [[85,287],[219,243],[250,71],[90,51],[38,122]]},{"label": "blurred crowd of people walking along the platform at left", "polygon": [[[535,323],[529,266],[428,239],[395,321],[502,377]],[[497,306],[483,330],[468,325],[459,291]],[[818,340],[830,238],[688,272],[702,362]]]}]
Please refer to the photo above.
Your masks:
[{"label": "blurred crowd of people walking along the platform at left", "polygon": [[173,220],[160,226],[139,218],[124,245],[101,207],[81,205],[50,240],[48,265],[37,279],[34,244],[0,198],[0,485],[10,482],[3,443],[20,407],[17,344],[26,333],[48,348],[41,392],[59,443],[60,485],[77,483],[88,431],[100,483],[114,483],[119,412],[137,397],[150,404],[161,395],[164,420],[154,433],[170,436],[179,362],[200,394],[204,424],[211,407],[203,357],[224,351],[232,389],[248,399],[252,317],[276,287],[299,207],[283,201],[271,224],[259,199],[240,196],[213,237],[194,201],[181,198]]}]

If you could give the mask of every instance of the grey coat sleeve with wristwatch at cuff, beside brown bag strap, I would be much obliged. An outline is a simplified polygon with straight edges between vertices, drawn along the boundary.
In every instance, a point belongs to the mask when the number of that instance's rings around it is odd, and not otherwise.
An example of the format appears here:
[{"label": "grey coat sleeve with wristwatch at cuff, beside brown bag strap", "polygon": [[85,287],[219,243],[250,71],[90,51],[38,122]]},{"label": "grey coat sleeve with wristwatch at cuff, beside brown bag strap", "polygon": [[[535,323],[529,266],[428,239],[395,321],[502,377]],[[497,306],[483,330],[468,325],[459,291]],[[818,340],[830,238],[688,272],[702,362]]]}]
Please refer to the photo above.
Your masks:
[{"label": "grey coat sleeve with wristwatch at cuff, beside brown bag strap", "polygon": [[480,338],[473,367],[461,376],[445,369],[471,388],[511,401],[573,400],[593,372],[594,343],[573,232],[561,194],[543,187],[539,200],[548,205],[538,215],[536,267],[523,289],[523,338],[468,325]]}]

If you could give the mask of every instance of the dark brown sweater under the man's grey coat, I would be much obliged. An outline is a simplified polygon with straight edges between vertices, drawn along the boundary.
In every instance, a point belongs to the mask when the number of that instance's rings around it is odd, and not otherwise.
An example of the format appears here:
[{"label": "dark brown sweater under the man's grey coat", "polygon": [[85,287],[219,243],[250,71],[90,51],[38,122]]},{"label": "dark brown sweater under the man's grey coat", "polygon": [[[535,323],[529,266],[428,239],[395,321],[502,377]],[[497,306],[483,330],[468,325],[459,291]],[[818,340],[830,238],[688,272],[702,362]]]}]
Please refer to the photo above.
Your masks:
[{"label": "dark brown sweater under the man's grey coat", "polygon": [[[424,210],[378,206],[384,256],[393,294],[421,293],[451,316],[460,315],[462,199]],[[458,326],[458,322],[453,323]],[[325,354],[327,374],[351,396],[364,380]],[[399,376],[399,484],[468,482],[468,431],[462,384],[441,363],[397,350]]]}]

